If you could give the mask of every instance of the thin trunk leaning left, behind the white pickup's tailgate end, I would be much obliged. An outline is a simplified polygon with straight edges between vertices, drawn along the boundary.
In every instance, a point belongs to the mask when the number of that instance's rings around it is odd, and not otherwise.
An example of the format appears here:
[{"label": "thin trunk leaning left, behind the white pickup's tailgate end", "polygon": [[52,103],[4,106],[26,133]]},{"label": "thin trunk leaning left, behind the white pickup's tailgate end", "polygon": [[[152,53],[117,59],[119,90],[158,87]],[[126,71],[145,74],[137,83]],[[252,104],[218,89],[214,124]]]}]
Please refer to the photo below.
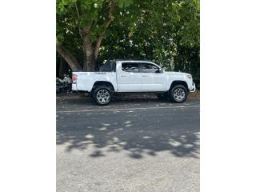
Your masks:
[{"label": "thin trunk leaning left, behind the white pickup's tailgate end", "polygon": [[60,54],[62,58],[65,59],[72,71],[82,70],[79,62],[76,60],[76,58],[74,58],[72,54],[70,54],[68,50],[66,50],[64,46],[56,46],[56,50],[58,51],[58,54]]}]

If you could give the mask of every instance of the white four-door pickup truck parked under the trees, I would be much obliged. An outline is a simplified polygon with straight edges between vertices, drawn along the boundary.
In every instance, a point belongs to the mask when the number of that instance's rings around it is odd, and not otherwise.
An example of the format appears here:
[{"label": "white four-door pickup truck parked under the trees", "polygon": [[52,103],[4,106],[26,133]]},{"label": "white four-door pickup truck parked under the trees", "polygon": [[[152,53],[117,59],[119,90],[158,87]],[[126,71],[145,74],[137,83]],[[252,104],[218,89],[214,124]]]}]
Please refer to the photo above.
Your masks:
[{"label": "white four-door pickup truck parked under the trees", "polygon": [[195,91],[191,74],[166,72],[150,61],[112,60],[96,72],[73,72],[72,90],[90,94],[101,106],[116,94],[157,94],[173,102],[185,102]]}]

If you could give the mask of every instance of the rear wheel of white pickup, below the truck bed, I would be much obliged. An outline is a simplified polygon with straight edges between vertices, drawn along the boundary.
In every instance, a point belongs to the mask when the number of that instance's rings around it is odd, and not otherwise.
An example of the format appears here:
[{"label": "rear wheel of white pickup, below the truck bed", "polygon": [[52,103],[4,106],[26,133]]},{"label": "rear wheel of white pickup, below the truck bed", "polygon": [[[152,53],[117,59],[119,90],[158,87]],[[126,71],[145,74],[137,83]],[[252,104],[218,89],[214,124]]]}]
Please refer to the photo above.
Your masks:
[{"label": "rear wheel of white pickup, below the truck bed", "polygon": [[93,98],[98,106],[106,106],[113,98],[113,91],[108,86],[98,86],[93,92]]}]

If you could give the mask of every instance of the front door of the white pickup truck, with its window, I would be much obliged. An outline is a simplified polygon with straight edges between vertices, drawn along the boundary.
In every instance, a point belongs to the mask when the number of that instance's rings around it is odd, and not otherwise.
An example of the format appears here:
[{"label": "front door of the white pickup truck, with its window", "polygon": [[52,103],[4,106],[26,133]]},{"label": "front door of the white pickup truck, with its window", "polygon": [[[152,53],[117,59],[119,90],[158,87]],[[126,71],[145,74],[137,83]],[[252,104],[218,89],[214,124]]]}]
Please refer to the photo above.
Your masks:
[{"label": "front door of the white pickup truck, with its window", "polygon": [[142,73],[142,91],[166,90],[166,74],[158,73],[159,66],[149,62],[140,63]]}]

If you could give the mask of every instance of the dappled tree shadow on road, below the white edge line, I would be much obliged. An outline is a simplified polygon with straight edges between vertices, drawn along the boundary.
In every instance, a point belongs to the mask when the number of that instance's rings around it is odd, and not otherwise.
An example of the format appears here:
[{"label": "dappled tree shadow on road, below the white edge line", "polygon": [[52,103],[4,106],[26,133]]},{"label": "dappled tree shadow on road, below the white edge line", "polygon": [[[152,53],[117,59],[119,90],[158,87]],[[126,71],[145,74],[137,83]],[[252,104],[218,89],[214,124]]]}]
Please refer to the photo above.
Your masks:
[{"label": "dappled tree shadow on road, below the white edge line", "polygon": [[91,158],[127,152],[130,158],[169,151],[199,157],[199,113],[190,110],[139,110],[58,114],[57,145],[66,152],[87,150]]}]

